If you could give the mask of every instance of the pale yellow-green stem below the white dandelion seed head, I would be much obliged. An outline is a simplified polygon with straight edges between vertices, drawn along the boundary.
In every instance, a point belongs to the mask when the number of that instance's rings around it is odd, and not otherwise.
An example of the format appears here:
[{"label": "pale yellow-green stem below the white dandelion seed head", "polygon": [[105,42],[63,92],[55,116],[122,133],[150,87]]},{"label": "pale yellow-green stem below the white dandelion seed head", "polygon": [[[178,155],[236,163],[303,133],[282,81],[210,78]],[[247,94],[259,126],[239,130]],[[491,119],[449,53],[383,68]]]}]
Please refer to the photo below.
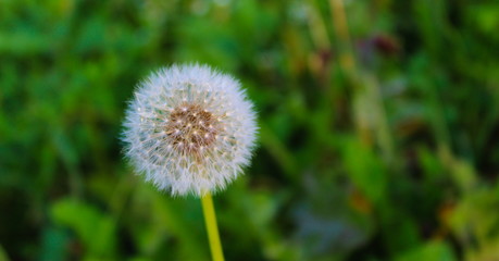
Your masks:
[{"label": "pale yellow-green stem below the white dandelion seed head", "polygon": [[220,243],[219,227],[216,225],[215,209],[213,199],[209,191],[201,198],[204,222],[207,223],[208,239],[210,241],[211,256],[213,261],[224,261],[224,252]]}]

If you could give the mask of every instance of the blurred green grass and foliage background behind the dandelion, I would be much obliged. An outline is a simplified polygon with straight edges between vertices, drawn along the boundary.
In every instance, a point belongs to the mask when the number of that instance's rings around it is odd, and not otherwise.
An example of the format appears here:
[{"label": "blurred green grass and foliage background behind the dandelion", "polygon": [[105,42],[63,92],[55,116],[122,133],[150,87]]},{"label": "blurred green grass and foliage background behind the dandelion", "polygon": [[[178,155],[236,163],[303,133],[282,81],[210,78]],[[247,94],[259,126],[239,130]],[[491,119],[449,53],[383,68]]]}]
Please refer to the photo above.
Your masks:
[{"label": "blurred green grass and foliage background behind the dandelion", "polygon": [[259,113],[227,260],[499,260],[499,2],[340,3],[0,0],[0,260],[210,260],[199,199],[118,139],[134,86],[195,61]]}]

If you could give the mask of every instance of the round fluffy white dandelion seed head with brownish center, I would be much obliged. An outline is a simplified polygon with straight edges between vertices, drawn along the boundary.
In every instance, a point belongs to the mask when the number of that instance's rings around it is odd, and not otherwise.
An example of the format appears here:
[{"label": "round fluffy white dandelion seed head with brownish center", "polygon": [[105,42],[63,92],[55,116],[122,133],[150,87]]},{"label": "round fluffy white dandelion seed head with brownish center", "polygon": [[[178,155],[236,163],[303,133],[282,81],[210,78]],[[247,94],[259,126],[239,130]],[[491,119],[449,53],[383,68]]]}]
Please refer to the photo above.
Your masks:
[{"label": "round fluffy white dandelion seed head with brownish center", "polygon": [[173,65],[138,85],[124,122],[137,172],[172,195],[217,191],[250,163],[257,124],[238,80],[205,65]]}]

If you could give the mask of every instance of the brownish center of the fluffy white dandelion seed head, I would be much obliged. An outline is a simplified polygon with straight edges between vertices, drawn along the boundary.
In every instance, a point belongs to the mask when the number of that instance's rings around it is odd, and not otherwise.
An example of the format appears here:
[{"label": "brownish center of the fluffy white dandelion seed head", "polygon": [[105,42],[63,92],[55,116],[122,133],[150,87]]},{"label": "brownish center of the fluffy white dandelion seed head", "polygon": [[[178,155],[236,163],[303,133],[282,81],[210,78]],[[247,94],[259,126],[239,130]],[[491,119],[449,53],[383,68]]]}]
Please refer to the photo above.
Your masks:
[{"label": "brownish center of the fluffy white dandelion seed head", "polygon": [[213,147],[221,129],[216,120],[200,104],[183,103],[170,113],[165,132],[179,152],[197,153]]}]

